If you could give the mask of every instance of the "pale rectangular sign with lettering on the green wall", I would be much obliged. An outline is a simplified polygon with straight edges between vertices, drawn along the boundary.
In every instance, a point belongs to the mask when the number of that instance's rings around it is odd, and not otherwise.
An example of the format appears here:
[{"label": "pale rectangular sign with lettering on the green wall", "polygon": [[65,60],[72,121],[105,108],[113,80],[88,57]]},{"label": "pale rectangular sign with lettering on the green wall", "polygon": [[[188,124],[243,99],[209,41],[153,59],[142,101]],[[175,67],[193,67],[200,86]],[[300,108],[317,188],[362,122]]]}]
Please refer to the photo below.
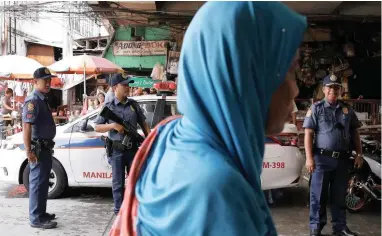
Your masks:
[{"label": "pale rectangular sign with lettering on the green wall", "polygon": [[168,41],[115,41],[115,56],[161,56],[167,54]]}]

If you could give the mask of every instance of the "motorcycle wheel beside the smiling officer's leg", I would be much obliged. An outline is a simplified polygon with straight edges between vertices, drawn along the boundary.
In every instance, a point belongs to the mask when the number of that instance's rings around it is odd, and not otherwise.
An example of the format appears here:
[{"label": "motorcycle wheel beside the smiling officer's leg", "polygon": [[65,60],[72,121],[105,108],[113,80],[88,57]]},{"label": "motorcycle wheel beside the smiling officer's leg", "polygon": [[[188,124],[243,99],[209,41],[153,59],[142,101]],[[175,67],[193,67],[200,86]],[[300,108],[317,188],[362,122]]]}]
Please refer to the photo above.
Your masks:
[{"label": "motorcycle wheel beside the smiling officer's leg", "polygon": [[[368,194],[355,186],[351,187],[353,183],[355,184],[359,181],[362,181],[362,178],[358,174],[352,174],[349,178],[345,203],[346,208],[350,213],[357,213],[362,211],[368,202]],[[351,188],[353,188],[352,191]]]}]

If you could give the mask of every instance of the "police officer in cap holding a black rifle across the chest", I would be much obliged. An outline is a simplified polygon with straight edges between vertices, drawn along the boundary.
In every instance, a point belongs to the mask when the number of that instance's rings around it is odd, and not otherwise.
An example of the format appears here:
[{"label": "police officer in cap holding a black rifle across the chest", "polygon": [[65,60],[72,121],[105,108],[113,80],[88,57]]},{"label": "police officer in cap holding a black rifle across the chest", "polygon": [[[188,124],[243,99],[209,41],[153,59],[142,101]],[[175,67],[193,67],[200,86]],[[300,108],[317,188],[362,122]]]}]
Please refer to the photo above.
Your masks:
[{"label": "police officer in cap holding a black rifle across the chest", "polygon": [[[145,136],[150,132],[150,127],[146,123],[146,117],[143,114],[138,103],[129,99],[129,83],[134,81],[127,78],[126,74],[115,74],[111,78],[111,86],[114,91],[114,97],[111,101],[105,102],[110,110],[122,119],[129,121],[133,128],[137,129],[137,124],[142,128]],[[112,166],[112,191],[114,199],[114,213],[118,214],[123,201],[123,193],[125,186],[126,172],[129,172],[138,146],[133,137],[131,137],[132,145],[126,146],[122,144],[122,140],[126,135],[123,126],[112,120],[98,116],[96,120],[96,132],[109,132],[109,139],[112,141],[112,151],[110,163]]]}]

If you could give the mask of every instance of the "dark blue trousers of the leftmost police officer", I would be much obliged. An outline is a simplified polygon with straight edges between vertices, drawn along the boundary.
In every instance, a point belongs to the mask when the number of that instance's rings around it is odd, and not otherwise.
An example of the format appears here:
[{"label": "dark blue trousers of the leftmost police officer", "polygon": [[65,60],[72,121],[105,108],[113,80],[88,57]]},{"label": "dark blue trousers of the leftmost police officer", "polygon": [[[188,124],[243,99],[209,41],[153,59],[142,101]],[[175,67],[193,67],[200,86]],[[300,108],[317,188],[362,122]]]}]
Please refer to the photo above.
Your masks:
[{"label": "dark blue trousers of the leftmost police officer", "polygon": [[32,224],[44,222],[48,200],[49,175],[52,169],[52,153],[43,149],[35,163],[29,163],[29,220]]}]

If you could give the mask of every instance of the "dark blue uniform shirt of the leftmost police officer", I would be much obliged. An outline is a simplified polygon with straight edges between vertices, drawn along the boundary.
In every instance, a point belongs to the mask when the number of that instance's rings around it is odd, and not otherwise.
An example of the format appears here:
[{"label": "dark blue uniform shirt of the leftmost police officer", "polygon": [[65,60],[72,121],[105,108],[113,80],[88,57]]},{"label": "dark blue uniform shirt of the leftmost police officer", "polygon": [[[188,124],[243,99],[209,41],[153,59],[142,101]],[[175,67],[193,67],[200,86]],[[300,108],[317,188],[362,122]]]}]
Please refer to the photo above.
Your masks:
[{"label": "dark blue uniform shirt of the leftmost police officer", "polygon": [[32,124],[32,139],[53,139],[56,136],[56,124],[48,100],[38,90],[25,99],[22,120]]}]

